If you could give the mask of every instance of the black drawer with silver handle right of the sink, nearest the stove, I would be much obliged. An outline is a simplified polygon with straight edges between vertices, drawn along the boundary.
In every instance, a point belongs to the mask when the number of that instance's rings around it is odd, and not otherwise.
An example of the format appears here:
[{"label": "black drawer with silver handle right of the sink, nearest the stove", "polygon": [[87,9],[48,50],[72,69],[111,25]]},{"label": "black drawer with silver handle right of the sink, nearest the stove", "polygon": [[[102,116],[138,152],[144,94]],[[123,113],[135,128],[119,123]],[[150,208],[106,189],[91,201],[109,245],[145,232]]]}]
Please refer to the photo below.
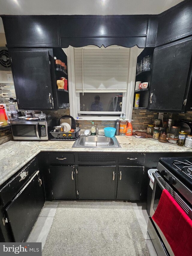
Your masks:
[{"label": "black drawer with silver handle right of the sink, nearest the stove", "polygon": [[144,164],[145,163],[145,154],[141,153],[128,153],[120,154],[119,163],[122,164]]}]

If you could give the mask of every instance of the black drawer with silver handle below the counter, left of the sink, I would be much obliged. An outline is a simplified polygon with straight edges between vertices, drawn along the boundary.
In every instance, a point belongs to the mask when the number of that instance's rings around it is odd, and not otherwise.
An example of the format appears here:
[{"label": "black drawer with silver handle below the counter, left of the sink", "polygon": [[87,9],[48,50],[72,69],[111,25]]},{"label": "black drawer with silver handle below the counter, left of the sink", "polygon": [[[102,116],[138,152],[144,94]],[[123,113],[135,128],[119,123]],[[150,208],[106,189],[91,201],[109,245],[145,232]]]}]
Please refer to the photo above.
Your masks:
[{"label": "black drawer with silver handle below the counter, left of the sink", "polygon": [[50,164],[74,164],[74,153],[55,152],[49,153]]}]

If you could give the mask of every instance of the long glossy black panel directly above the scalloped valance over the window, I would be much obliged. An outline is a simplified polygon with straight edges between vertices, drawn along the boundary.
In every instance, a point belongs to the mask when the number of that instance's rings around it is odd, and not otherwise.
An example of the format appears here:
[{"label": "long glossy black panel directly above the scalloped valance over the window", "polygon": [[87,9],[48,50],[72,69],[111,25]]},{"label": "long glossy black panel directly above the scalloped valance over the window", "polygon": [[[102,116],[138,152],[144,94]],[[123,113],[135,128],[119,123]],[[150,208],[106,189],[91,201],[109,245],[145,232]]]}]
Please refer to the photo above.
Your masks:
[{"label": "long glossy black panel directly above the scalloped valance over the window", "polygon": [[148,17],[142,15],[61,15],[59,20],[61,37],[142,37],[147,34]]}]

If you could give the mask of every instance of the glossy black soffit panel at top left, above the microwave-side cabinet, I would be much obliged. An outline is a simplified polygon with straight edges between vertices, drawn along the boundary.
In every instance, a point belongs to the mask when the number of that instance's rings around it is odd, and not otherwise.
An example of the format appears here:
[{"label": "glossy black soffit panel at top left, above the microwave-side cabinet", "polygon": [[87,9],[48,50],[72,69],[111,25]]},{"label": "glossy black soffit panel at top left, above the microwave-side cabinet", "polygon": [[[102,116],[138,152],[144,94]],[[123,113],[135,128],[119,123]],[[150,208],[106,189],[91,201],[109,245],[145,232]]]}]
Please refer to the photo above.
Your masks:
[{"label": "glossy black soffit panel at top left, above the microwave-side cabinet", "polygon": [[8,47],[59,47],[59,21],[54,15],[2,15]]}]

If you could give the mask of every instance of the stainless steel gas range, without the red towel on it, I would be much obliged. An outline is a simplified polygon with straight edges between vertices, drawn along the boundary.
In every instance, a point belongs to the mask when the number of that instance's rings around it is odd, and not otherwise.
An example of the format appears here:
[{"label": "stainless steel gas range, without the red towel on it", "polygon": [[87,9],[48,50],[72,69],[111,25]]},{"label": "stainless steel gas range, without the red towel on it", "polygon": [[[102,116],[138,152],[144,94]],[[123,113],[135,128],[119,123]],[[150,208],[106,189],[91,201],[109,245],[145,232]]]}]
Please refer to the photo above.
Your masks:
[{"label": "stainless steel gas range, without the red towel on it", "polygon": [[173,251],[152,216],[157,209],[162,191],[167,189],[184,212],[192,219],[192,157],[160,158],[155,178],[148,233],[158,255],[173,255]]}]

